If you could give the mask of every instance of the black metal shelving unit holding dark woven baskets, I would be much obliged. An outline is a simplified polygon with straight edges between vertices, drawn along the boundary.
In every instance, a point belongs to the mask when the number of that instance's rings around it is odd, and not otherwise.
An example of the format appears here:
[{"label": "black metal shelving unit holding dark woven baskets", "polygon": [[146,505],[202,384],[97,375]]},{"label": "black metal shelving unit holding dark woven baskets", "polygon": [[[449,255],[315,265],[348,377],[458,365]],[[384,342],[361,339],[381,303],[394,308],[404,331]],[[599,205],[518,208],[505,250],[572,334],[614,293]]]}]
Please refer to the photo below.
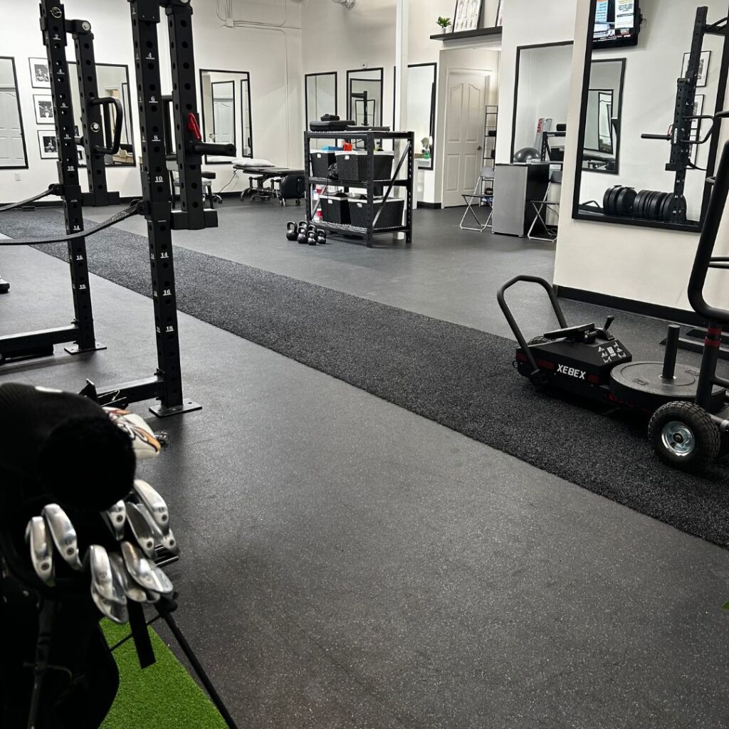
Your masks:
[{"label": "black metal shelving unit holding dark woven baskets", "polygon": [[[311,149],[312,139],[332,139],[335,141],[343,139],[345,141],[364,141],[367,150],[367,180],[364,182],[356,182],[352,180],[328,179],[323,177],[311,176],[311,152],[318,151]],[[375,141],[383,139],[404,140],[406,141],[405,149],[400,153],[399,160],[394,162],[394,173],[391,179],[375,180]],[[393,145],[394,146],[394,145]],[[319,209],[319,201],[312,208],[311,202],[311,186],[324,185],[324,190],[328,187],[343,187],[348,190],[350,187],[361,188],[367,190],[367,227],[359,227],[356,225],[343,225],[338,223],[327,223],[317,221],[316,226],[325,230],[331,230],[332,233],[343,233],[344,235],[356,235],[364,238],[368,248],[373,247],[375,235],[386,235],[392,233],[405,233],[405,243],[408,245],[413,242],[413,171],[415,170],[415,133],[414,132],[383,132],[383,131],[367,131],[367,132],[304,132],[304,170],[305,170],[305,196],[306,196],[306,221],[312,222],[316,211]],[[402,169],[405,168],[406,176],[399,177]],[[377,216],[375,216],[375,188],[386,188],[383,194],[383,200],[388,200],[392,190],[395,187],[404,187],[405,195],[405,225],[397,225],[396,227],[375,227]],[[384,203],[383,203],[384,205]],[[381,206],[380,209],[383,209]]]}]

